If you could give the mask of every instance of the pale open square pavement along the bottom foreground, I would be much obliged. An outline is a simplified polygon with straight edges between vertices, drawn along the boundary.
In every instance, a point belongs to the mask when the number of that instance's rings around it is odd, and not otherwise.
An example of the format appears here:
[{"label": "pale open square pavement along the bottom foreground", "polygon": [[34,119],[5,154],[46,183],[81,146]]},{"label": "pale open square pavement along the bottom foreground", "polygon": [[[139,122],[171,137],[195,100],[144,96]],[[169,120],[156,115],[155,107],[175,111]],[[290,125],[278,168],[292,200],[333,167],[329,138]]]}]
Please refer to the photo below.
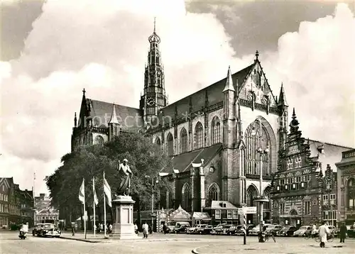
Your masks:
[{"label": "pale open square pavement along the bottom foreground", "polygon": [[346,239],[339,243],[334,239],[327,243],[327,248],[319,248],[313,239],[276,238],[267,243],[258,243],[256,237],[248,237],[243,244],[240,236],[200,236],[186,234],[164,235],[154,233],[148,239],[136,241],[118,241],[104,239],[103,235],[95,238],[91,233],[84,239],[83,233],[74,237],[62,233],[61,238],[39,238],[28,236],[20,240],[14,231],[0,231],[0,253],[355,253],[355,239]]}]

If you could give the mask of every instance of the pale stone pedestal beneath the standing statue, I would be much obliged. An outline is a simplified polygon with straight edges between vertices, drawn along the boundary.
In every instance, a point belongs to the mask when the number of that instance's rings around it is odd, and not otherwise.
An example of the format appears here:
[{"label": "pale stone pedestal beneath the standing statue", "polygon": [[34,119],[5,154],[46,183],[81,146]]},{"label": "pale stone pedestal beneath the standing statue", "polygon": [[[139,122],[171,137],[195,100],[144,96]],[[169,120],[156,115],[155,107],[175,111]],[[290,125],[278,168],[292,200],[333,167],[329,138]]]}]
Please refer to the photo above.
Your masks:
[{"label": "pale stone pedestal beneath the standing statue", "polygon": [[136,239],[138,236],[134,233],[133,224],[133,204],[136,201],[130,196],[118,196],[112,200],[112,209],[114,210],[114,223],[112,233],[109,235],[117,239]]}]

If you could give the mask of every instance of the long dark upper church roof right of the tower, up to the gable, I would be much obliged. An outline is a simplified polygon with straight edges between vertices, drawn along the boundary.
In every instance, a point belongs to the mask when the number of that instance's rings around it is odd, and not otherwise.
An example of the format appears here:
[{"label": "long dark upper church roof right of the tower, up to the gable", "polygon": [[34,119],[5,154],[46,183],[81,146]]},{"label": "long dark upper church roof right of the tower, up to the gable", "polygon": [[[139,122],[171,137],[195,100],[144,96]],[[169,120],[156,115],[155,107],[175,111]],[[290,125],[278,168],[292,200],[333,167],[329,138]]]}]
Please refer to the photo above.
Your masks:
[{"label": "long dark upper church roof right of the tower, up to the gable", "polygon": [[[236,90],[236,84],[238,84],[238,92],[240,92],[242,84],[244,84],[244,79],[248,76],[249,72],[253,69],[253,66],[249,65],[248,67],[240,70],[239,72],[235,72],[231,74],[231,79],[233,81],[234,89]],[[238,82],[237,82],[238,80]],[[204,108],[205,101],[206,101],[206,94],[208,98],[209,105],[217,104],[218,102],[223,101],[223,89],[226,86],[226,77],[224,79],[215,82],[214,84],[209,85],[208,87],[204,87],[200,91],[197,91],[185,98],[182,98],[178,101],[175,101],[173,104],[169,104],[161,109],[161,114],[158,115],[159,123],[163,123],[162,117],[163,116],[170,116],[172,120],[175,119],[175,109],[177,111],[176,118],[185,117],[186,114],[190,110],[190,101],[192,101],[191,107],[192,112],[199,111]],[[157,121],[157,120],[156,120]],[[153,121],[153,126],[158,126],[156,121]],[[164,118],[165,124],[170,121],[169,118]]]}]

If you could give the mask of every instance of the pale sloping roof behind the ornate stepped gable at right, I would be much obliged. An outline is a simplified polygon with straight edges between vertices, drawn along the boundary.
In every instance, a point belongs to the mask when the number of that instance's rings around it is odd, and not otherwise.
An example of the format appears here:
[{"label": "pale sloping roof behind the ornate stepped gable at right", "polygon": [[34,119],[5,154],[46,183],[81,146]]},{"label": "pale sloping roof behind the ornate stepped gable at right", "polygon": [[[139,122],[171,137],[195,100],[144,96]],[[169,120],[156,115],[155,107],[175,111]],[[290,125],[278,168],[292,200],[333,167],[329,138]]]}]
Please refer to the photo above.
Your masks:
[{"label": "pale sloping roof behind the ornate stepped gable at right", "polygon": [[[306,140],[307,142],[307,140]],[[320,148],[323,145],[324,153],[320,153]],[[319,161],[322,162],[322,172],[324,173],[327,170],[327,164],[330,165],[332,170],[337,170],[335,163],[342,160],[342,152],[351,150],[353,148],[349,148],[342,145],[334,145],[331,143],[323,143],[318,140],[310,140],[310,156],[319,155]]]}]

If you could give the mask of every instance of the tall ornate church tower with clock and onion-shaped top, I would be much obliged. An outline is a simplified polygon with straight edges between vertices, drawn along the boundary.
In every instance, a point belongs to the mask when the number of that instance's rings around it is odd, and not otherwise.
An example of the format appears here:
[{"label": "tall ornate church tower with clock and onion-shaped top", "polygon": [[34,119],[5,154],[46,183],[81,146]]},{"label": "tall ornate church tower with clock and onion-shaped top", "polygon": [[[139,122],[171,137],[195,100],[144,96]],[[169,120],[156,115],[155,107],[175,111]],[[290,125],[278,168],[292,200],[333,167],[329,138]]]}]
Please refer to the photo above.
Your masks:
[{"label": "tall ornate church tower with clock and onion-shaped top", "polygon": [[165,96],[164,70],[159,51],[160,38],[154,31],[148,38],[150,47],[148,51],[148,65],[144,72],[144,90],[141,95],[139,108],[143,110],[144,121],[151,122],[161,108],[167,104]]}]

